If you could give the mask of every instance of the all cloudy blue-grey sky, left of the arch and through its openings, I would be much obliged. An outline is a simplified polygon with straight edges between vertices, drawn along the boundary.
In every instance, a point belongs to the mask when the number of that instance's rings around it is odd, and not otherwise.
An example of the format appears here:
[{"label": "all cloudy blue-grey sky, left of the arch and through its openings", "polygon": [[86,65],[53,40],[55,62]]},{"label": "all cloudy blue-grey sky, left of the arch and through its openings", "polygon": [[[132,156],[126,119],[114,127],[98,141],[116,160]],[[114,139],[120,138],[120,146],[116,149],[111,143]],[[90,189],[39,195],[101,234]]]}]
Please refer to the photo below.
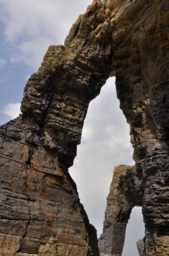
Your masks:
[{"label": "all cloudy blue-grey sky, left of the arch and through its openings", "polygon": [[[64,44],[68,31],[91,0],[0,0],[0,124],[19,115],[23,88],[50,44]],[[106,197],[119,164],[133,164],[129,125],[119,108],[115,78],[89,105],[81,144],[70,174],[91,224],[101,234]],[[144,236],[139,207],[127,225],[123,256],[138,255]]]}]

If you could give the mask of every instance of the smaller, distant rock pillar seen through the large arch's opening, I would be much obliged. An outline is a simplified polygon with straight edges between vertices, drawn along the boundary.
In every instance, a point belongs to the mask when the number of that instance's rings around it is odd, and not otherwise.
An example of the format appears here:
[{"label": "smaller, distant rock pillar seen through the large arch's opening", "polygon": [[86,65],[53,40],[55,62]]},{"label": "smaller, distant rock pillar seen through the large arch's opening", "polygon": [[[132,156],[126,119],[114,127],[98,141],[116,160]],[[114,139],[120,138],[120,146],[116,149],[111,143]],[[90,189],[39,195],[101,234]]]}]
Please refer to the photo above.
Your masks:
[{"label": "smaller, distant rock pillar seen through the large arch's opening", "polygon": [[135,177],[135,166],[115,167],[107,197],[103,234],[99,238],[101,256],[121,256],[131,210],[135,205],[141,205],[140,185]]}]

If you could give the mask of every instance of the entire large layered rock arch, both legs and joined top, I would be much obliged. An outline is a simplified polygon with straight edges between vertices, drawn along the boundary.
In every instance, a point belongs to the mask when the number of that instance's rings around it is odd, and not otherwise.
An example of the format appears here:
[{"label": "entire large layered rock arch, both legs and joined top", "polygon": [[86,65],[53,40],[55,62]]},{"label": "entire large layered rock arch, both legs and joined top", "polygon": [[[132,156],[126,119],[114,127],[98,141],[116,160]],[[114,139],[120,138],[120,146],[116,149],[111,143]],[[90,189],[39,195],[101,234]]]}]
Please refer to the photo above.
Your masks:
[{"label": "entire large layered rock arch, both legs and joined top", "polygon": [[[131,207],[139,204],[146,225],[144,253],[169,255],[168,26],[166,0],[94,0],[65,45],[50,46],[25,86],[22,115],[0,127],[0,255],[99,255],[95,228],[68,167],[89,102],[114,74],[131,127],[135,169],[119,167],[125,182],[115,174],[109,195],[115,209],[105,219],[101,253],[111,255],[116,245],[114,238],[110,244],[109,230],[124,232]],[[129,199],[118,186],[137,196]],[[121,255],[122,245],[123,236],[115,255]]]}]

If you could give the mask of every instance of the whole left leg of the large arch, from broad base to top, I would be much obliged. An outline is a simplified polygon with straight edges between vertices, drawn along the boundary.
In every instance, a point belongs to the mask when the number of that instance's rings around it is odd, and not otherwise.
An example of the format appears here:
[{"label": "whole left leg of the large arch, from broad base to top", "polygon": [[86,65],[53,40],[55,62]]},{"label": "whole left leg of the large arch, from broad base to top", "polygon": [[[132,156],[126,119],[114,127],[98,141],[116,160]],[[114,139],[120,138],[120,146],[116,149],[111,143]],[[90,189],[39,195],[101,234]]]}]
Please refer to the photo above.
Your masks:
[{"label": "whole left leg of the large arch, from broad base to top", "polygon": [[49,47],[25,87],[22,115],[0,128],[2,256],[99,255],[68,167],[88,104],[109,75],[110,46],[93,34],[102,12],[93,3],[65,46]]}]

